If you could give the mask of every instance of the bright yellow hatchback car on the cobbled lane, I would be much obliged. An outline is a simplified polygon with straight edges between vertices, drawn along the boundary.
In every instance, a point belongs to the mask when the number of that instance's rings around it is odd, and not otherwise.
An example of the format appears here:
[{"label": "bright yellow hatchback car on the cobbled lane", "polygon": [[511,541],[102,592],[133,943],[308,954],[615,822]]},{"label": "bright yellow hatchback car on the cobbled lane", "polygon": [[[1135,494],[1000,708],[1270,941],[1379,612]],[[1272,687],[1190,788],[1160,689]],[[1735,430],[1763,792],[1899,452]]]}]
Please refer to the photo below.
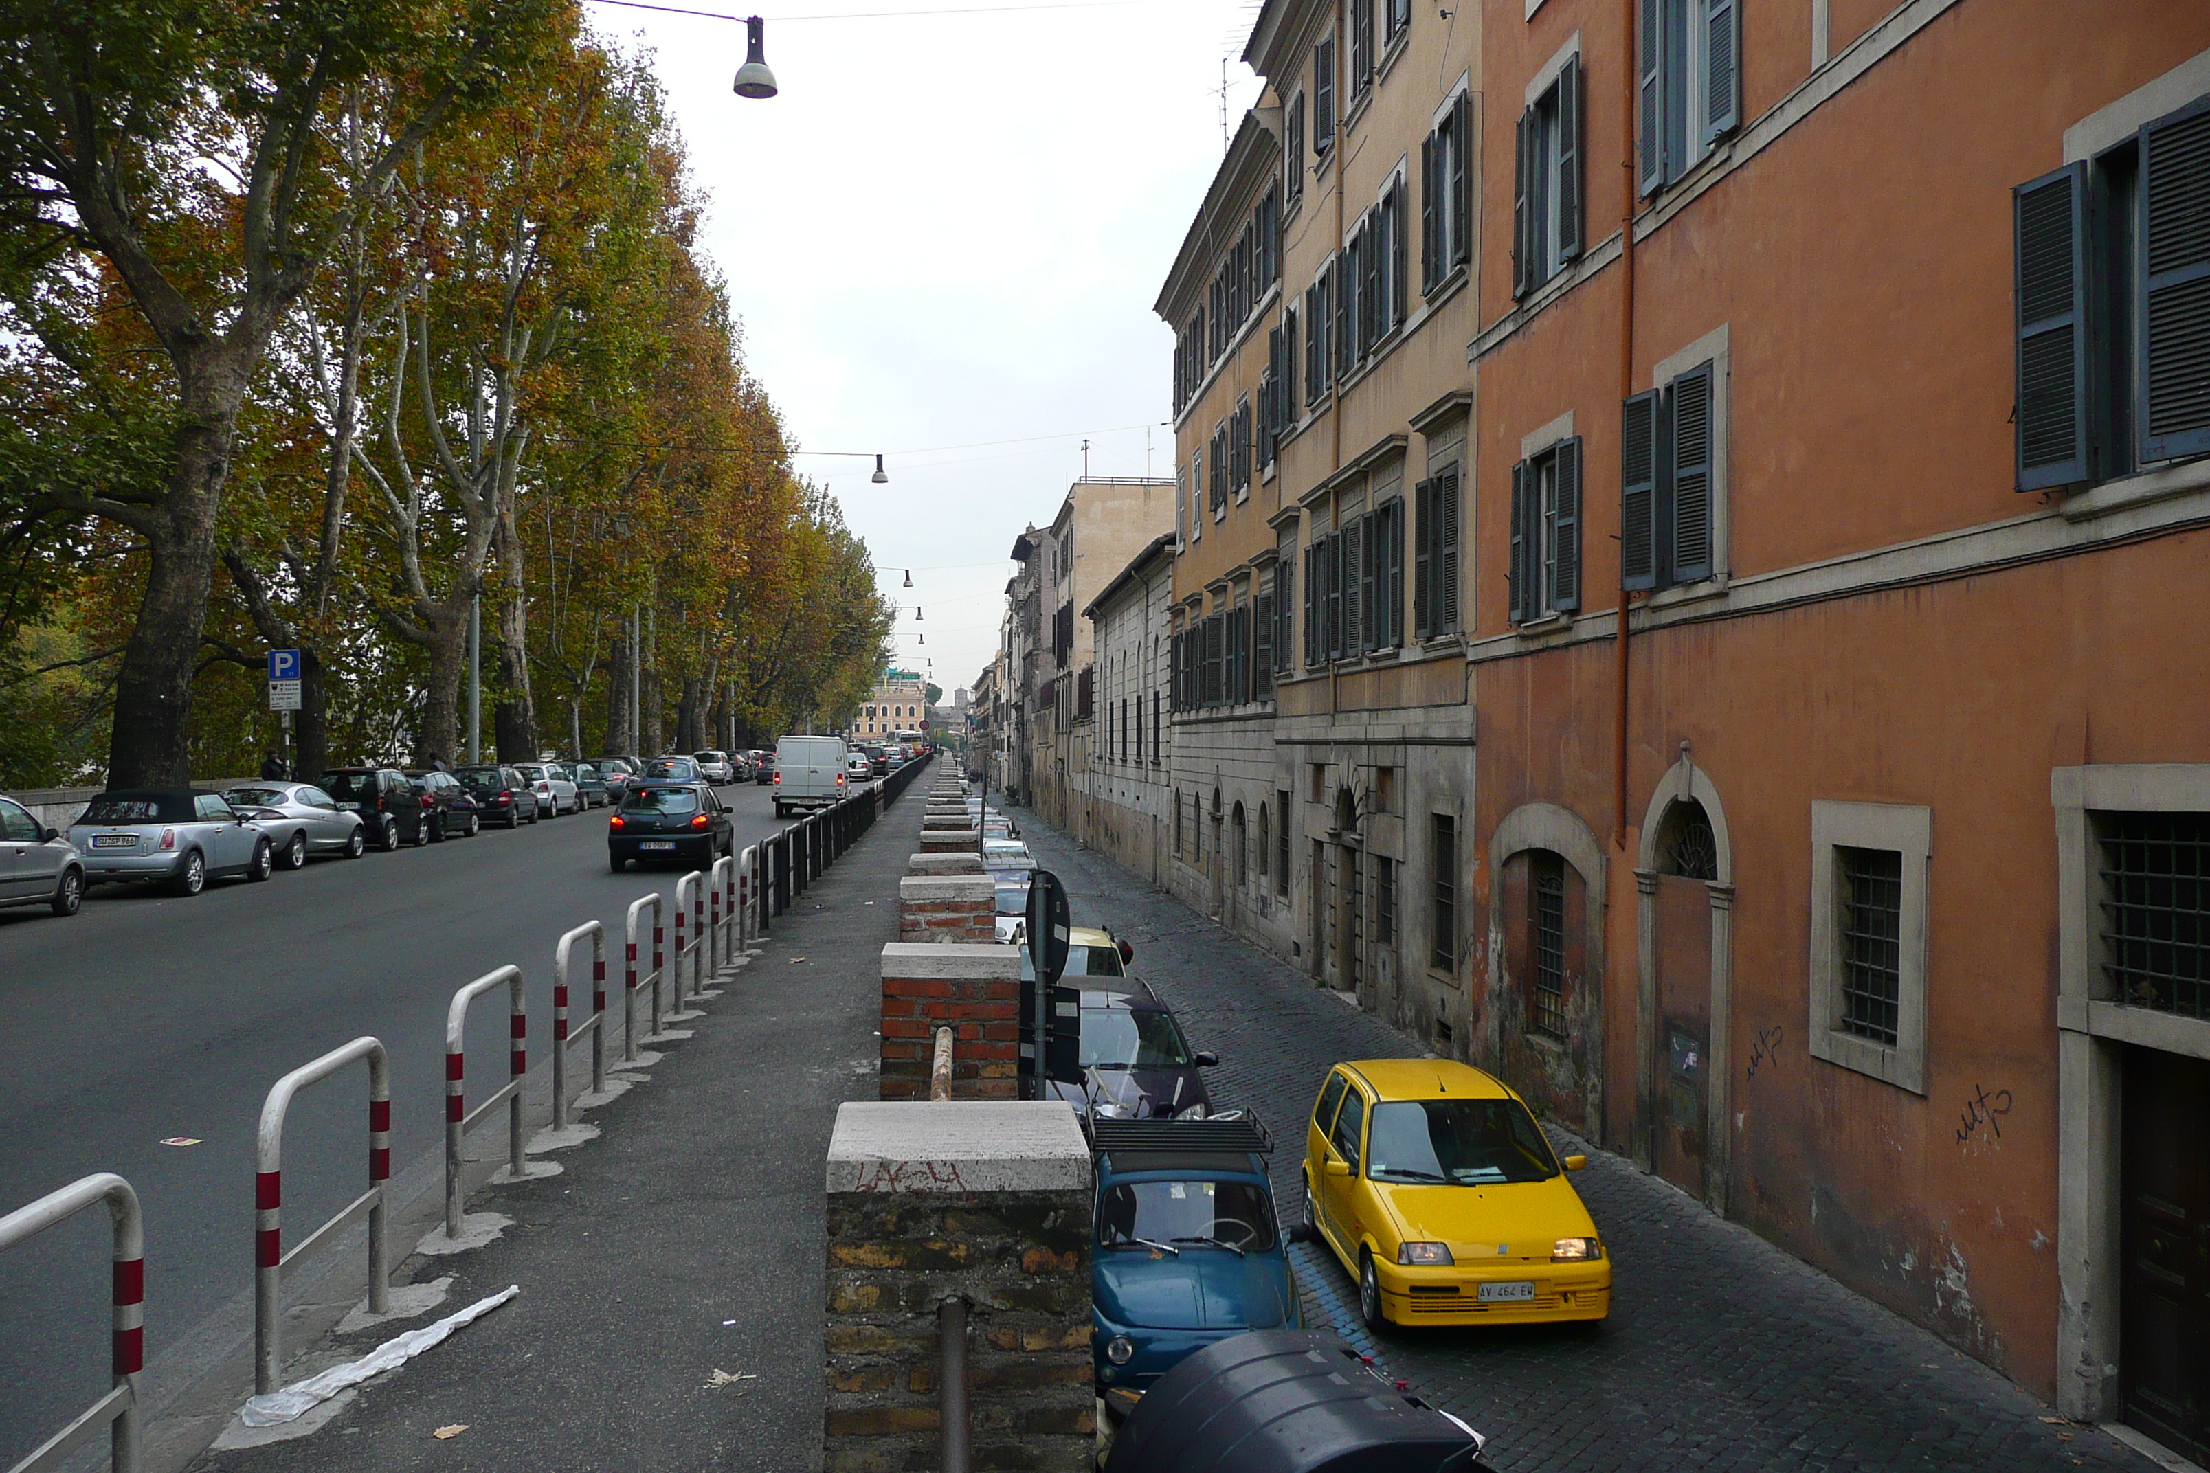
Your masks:
[{"label": "bright yellow hatchback car on the cobbled lane", "polygon": [[1611,1259],[1527,1104],[1434,1058],[1337,1064],[1306,1128],[1304,1215],[1388,1325],[1600,1321]]}]

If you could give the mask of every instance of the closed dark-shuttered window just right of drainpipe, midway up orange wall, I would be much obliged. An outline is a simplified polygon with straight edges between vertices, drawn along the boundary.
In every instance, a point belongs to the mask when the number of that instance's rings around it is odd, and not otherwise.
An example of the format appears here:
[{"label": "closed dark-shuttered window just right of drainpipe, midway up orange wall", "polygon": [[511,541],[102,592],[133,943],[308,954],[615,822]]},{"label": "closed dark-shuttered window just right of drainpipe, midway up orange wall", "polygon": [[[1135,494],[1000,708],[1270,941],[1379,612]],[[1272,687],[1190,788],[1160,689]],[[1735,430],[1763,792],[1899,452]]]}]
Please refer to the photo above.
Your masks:
[{"label": "closed dark-shuttered window just right of drainpipe, midway up orange wall", "polygon": [[1713,576],[1717,435],[1711,362],[1627,400],[1620,435],[1620,579],[1675,587]]}]

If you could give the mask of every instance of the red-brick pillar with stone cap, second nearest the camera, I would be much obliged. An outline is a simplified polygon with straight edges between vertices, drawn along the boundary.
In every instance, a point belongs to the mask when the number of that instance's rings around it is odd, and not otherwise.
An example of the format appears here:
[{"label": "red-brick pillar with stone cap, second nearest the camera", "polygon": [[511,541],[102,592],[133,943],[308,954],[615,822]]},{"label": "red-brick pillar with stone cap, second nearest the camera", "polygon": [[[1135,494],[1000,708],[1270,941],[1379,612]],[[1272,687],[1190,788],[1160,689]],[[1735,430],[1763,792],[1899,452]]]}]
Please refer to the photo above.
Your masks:
[{"label": "red-brick pillar with stone cap, second nearest the camera", "polygon": [[1012,1100],[1019,1007],[1019,947],[933,941],[882,947],[882,1098],[928,1098],[935,1031],[948,1025],[953,1098]]}]

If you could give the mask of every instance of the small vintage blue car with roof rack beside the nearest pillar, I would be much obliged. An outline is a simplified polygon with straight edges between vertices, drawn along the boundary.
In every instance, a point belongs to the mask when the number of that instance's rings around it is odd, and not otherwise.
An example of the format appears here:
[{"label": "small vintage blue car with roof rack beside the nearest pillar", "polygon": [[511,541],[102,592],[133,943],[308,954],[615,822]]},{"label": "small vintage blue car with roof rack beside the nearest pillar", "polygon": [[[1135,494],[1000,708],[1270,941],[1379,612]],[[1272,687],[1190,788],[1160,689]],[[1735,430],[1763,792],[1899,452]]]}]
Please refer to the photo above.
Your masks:
[{"label": "small vintage blue car with roof rack beside the nearest pillar", "polygon": [[1302,1329],[1257,1120],[1092,1120],[1098,1393],[1143,1393],[1246,1329]]}]

